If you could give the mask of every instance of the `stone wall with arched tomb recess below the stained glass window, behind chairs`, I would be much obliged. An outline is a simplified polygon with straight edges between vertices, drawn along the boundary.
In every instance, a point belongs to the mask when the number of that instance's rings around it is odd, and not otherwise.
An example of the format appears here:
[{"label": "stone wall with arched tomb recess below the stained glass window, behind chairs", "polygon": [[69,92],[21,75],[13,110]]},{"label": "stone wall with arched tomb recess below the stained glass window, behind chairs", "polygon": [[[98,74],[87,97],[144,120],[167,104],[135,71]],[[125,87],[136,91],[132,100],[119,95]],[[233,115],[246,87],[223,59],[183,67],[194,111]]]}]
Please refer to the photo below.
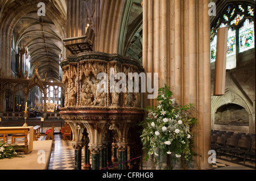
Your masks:
[{"label": "stone wall with arched tomb recess below the stained glass window, behind chairs", "polygon": [[[214,69],[213,62],[211,64],[212,129],[255,133],[255,49],[237,53],[236,68],[226,70],[225,95],[213,96]],[[225,121],[220,123],[220,113],[217,113],[217,110],[226,104],[242,107],[243,112],[240,109],[233,110],[233,114],[236,114],[232,116],[233,121],[226,121],[225,124]],[[247,125],[241,121],[236,123],[238,115],[243,116],[244,120],[248,117]]]}]

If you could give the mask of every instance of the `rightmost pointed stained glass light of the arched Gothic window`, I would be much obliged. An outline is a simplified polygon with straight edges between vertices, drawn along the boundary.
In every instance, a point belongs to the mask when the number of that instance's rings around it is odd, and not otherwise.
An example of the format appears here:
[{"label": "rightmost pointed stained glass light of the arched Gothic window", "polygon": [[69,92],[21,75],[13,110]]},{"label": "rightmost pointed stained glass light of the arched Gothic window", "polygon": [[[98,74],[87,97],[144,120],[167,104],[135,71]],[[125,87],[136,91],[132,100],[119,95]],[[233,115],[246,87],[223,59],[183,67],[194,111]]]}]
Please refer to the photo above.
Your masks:
[{"label": "rightmost pointed stained glass light of the arched Gothic window", "polygon": [[246,19],[243,23],[243,26],[239,29],[239,43],[240,51],[244,52],[245,50],[254,48],[254,24],[253,21]]}]

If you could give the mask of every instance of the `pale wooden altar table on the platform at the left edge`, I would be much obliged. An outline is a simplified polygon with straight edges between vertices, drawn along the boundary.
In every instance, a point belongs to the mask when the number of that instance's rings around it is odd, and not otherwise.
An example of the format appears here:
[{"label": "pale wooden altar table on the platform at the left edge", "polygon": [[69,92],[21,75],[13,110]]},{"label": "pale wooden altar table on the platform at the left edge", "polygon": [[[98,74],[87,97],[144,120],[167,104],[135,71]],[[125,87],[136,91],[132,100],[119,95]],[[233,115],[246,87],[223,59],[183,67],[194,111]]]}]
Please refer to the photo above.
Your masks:
[{"label": "pale wooden altar table on the platform at the left edge", "polygon": [[17,134],[24,133],[24,144],[19,146],[24,146],[24,153],[31,153],[33,150],[33,140],[34,140],[34,127],[0,127],[0,134],[3,134],[3,142],[5,141],[5,135],[7,134]]}]

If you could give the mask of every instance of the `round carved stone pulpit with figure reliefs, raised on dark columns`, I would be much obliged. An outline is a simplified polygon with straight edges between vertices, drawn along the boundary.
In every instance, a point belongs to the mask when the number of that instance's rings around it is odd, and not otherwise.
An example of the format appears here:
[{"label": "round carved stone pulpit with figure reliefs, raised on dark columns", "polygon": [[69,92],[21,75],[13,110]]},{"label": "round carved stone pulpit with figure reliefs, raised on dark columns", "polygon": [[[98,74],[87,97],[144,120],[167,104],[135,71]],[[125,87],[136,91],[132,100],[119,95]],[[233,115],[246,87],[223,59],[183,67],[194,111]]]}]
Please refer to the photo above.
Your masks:
[{"label": "round carved stone pulpit with figure reliefs, raised on dark columns", "polygon": [[[131,73],[143,73],[139,62],[118,54],[85,52],[69,56],[60,66],[67,88],[65,107],[60,114],[72,129],[75,169],[81,169],[84,146],[82,169],[98,170],[112,165],[116,151],[118,162],[141,155],[137,127],[144,115],[141,81],[136,82],[138,77],[135,77],[133,82],[129,77]],[[139,87],[137,91],[134,91],[135,86]],[[128,91],[131,88],[133,91]],[[127,158],[127,151],[130,158]],[[119,165],[119,169],[137,169],[137,166],[138,161],[132,161]]]}]

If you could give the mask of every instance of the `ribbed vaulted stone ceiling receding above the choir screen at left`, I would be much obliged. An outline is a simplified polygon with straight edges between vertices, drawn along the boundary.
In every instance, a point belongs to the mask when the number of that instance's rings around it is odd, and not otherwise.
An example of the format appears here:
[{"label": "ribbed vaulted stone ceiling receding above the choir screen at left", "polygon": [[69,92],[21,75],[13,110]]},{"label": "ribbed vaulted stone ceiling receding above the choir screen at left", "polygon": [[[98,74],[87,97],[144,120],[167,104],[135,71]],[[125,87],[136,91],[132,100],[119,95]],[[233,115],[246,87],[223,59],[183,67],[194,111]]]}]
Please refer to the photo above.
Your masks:
[{"label": "ribbed vaulted stone ceiling receding above the choir screen at left", "polygon": [[[48,79],[59,79],[59,55],[63,49],[61,35],[52,20],[38,16],[37,11],[29,12],[19,19],[14,28],[16,45],[27,47],[31,63],[39,65],[39,76]],[[35,65],[31,64],[31,71]]]}]

